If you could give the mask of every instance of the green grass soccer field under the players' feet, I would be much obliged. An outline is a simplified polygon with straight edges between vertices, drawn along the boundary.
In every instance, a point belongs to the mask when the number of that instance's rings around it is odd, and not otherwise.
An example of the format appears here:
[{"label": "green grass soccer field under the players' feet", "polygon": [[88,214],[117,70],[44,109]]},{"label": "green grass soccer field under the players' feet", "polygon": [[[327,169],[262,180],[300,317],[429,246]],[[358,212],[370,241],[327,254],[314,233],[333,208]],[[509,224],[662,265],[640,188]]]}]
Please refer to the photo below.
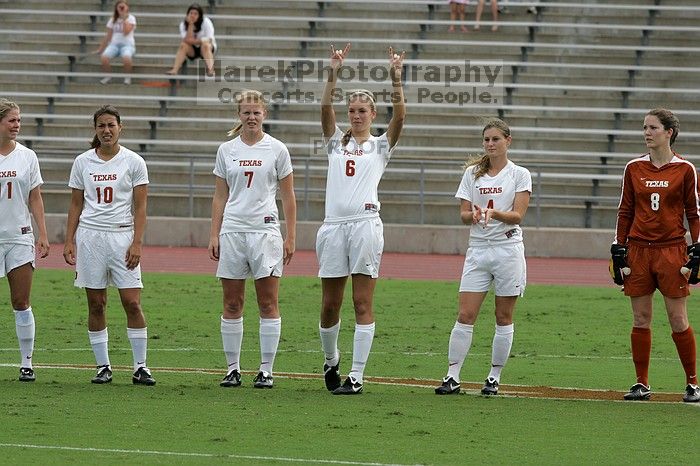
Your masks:
[{"label": "green grass soccer field under the players' feet", "polygon": [[[216,279],[160,273],[144,274],[143,293],[148,362],[157,385],[131,384],[124,312],[110,290],[116,370],[112,384],[96,386],[90,383],[94,358],[85,296],[72,278],[57,270],[35,275],[33,384],[17,381],[14,320],[6,281],[0,283],[7,310],[0,326],[0,463],[672,464],[696,454],[693,442],[681,439],[695,431],[700,407],[680,402],[683,371],[660,299],[650,372],[655,402],[617,401],[634,382],[628,299],[612,288],[543,285],[528,286],[518,303],[503,396],[477,394],[490,364],[489,297],[462,371],[468,389],[438,397],[432,388],[446,371],[457,284],[382,279],[365,393],[334,397],[320,374],[317,279],[282,280],[275,388],[254,390],[259,347],[252,287],[242,387],[218,385],[225,359]],[[346,301],[339,342],[343,375],[354,327]],[[699,304],[691,296],[696,326]],[[536,390],[541,386],[569,390],[542,395]],[[609,390],[616,401],[585,399],[604,398],[598,394]],[[537,398],[528,395],[533,391]]]}]

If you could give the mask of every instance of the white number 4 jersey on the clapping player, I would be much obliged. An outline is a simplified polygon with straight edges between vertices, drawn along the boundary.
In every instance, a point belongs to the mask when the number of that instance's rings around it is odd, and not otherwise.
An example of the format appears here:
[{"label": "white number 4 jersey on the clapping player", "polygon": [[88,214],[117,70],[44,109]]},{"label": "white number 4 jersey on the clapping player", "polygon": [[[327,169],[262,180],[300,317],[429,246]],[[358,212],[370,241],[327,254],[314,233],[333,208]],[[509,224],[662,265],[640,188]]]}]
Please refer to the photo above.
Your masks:
[{"label": "white number 4 jersey on the clapping player", "polygon": [[[513,210],[515,194],[532,192],[532,178],[527,168],[511,161],[496,176],[483,175],[474,179],[475,165],[470,166],[462,176],[456,198],[464,199],[483,208],[509,212]],[[489,220],[486,228],[481,224],[471,226],[469,245],[479,246],[489,242],[517,243],[523,240],[520,225],[509,225],[498,220]]]}]

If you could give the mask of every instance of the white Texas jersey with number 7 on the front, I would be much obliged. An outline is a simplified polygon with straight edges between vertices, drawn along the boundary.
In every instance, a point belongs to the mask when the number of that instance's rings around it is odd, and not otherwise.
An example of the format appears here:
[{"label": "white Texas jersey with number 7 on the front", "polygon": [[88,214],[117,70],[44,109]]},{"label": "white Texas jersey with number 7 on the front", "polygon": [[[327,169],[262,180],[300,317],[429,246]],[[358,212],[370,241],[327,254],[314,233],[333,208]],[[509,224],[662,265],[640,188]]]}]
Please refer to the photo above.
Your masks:
[{"label": "white Texas jersey with number 7 on the front", "polygon": [[279,180],[290,173],[292,160],[287,147],[269,134],[252,146],[240,136],[221,144],[214,175],[226,180],[229,195],[220,233],[281,236],[275,198]]}]

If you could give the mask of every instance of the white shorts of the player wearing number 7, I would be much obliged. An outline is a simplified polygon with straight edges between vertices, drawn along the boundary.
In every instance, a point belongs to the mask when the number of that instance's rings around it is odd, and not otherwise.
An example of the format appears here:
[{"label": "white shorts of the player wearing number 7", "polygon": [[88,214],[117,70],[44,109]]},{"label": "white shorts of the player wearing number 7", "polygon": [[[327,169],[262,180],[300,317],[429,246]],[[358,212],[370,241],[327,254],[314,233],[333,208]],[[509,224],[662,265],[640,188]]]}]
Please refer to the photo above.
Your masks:
[{"label": "white shorts of the player wearing number 7", "polygon": [[237,232],[219,235],[218,278],[255,280],[282,276],[283,241],[270,233]]}]

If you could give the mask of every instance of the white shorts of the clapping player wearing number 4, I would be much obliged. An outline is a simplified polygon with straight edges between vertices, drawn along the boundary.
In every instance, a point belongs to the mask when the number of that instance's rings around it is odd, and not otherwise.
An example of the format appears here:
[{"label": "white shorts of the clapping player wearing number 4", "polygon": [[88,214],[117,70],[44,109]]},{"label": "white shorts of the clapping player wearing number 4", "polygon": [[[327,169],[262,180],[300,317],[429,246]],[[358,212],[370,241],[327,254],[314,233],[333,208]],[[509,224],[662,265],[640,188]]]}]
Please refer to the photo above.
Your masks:
[{"label": "white shorts of the clapping player wearing number 4", "polygon": [[496,296],[522,296],[527,282],[523,243],[470,247],[464,259],[459,291],[488,291]]}]

